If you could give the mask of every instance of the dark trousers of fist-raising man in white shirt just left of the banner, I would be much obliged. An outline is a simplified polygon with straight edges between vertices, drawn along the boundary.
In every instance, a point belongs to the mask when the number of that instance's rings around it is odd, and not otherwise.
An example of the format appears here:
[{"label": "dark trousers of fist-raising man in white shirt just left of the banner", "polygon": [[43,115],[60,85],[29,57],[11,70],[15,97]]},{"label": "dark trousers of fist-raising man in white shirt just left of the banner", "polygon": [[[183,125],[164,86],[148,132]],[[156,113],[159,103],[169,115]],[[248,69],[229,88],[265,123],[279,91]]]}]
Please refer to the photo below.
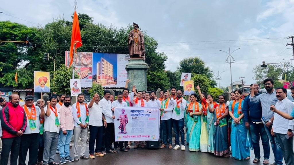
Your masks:
[{"label": "dark trousers of fist-raising man in white shirt just left of the banner", "polygon": [[[90,129],[90,138],[89,138],[89,154],[94,154],[94,152],[102,151],[102,135],[103,135],[103,126],[96,127],[89,125]],[[96,140],[96,149],[94,151],[94,145]]]}]

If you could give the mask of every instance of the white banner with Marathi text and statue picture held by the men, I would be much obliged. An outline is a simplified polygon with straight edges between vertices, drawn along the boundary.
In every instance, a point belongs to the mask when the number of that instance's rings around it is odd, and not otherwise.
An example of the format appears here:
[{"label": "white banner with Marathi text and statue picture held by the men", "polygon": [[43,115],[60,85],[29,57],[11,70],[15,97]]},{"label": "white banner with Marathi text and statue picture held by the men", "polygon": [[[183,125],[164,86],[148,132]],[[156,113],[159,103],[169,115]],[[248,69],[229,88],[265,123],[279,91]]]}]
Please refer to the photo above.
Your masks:
[{"label": "white banner with Marathi text and statue picture held by the men", "polygon": [[158,141],[157,107],[115,107],[115,141]]}]

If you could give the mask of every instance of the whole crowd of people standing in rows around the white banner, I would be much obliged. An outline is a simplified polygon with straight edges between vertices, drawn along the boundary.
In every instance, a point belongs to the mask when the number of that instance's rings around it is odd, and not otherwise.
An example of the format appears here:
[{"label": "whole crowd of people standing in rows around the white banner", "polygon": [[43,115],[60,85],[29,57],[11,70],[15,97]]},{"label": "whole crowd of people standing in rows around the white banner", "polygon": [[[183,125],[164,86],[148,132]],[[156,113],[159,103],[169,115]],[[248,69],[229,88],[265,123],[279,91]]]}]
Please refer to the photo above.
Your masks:
[{"label": "whole crowd of people standing in rows around the white banner", "polygon": [[[128,83],[128,80],[127,80]],[[79,94],[77,102],[72,104],[71,97],[64,94],[51,96],[46,103],[39,99],[34,105],[34,97],[25,97],[25,105],[19,105],[19,95],[12,94],[9,101],[2,97],[0,111],[0,136],[3,147],[1,165],[25,165],[29,151],[29,165],[58,165],[54,157],[60,154],[60,163],[94,159],[95,156],[127,152],[132,142],[115,142],[114,107],[158,107],[160,113],[160,149],[201,151],[220,157],[232,157],[237,160],[249,160],[253,148],[255,159],[260,162],[260,145],[263,146],[263,164],[269,164],[270,145],[275,162],[273,165],[294,164],[293,153],[293,103],[288,100],[283,87],[273,88],[272,79],[263,82],[266,93],[258,93],[258,85],[250,85],[251,94],[244,100],[241,91],[230,94],[231,100],[225,103],[225,96],[214,102],[211,94],[201,92],[198,95],[183,96],[183,91],[171,87],[156,92],[131,92],[124,88],[116,96],[104,90],[103,97],[97,93],[88,104],[84,95]],[[291,87],[294,97],[294,87]],[[200,100],[200,102],[197,101]],[[71,105],[72,104],[72,105]],[[186,127],[185,127],[186,125]],[[172,145],[172,128],[175,143]],[[86,143],[89,137],[89,155]],[[185,144],[186,129],[186,144]],[[123,131],[124,128],[121,128]],[[70,142],[74,139],[74,155],[70,156]],[[81,139],[81,151],[78,142]],[[180,141],[181,139],[181,141]],[[96,145],[95,145],[96,142]],[[181,142],[181,144],[180,144]],[[134,149],[144,148],[145,142],[134,142]],[[58,149],[57,149],[58,148]],[[88,155],[88,156],[87,156]]]}]

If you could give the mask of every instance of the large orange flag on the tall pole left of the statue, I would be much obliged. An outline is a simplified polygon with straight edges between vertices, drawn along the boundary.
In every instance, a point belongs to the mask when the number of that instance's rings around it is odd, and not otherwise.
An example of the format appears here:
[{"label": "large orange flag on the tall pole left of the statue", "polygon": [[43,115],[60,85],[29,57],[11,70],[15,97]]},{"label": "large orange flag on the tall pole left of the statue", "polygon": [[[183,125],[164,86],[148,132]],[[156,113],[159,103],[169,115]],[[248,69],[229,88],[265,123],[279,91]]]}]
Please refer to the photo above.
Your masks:
[{"label": "large orange flag on the tall pole left of the statue", "polygon": [[80,32],[80,25],[78,24],[78,15],[76,11],[74,11],[74,21],[73,21],[73,28],[71,32],[71,49],[69,51],[69,66],[73,63],[74,60],[74,53],[76,53],[76,49],[81,47],[82,39],[81,39],[81,32]]}]

